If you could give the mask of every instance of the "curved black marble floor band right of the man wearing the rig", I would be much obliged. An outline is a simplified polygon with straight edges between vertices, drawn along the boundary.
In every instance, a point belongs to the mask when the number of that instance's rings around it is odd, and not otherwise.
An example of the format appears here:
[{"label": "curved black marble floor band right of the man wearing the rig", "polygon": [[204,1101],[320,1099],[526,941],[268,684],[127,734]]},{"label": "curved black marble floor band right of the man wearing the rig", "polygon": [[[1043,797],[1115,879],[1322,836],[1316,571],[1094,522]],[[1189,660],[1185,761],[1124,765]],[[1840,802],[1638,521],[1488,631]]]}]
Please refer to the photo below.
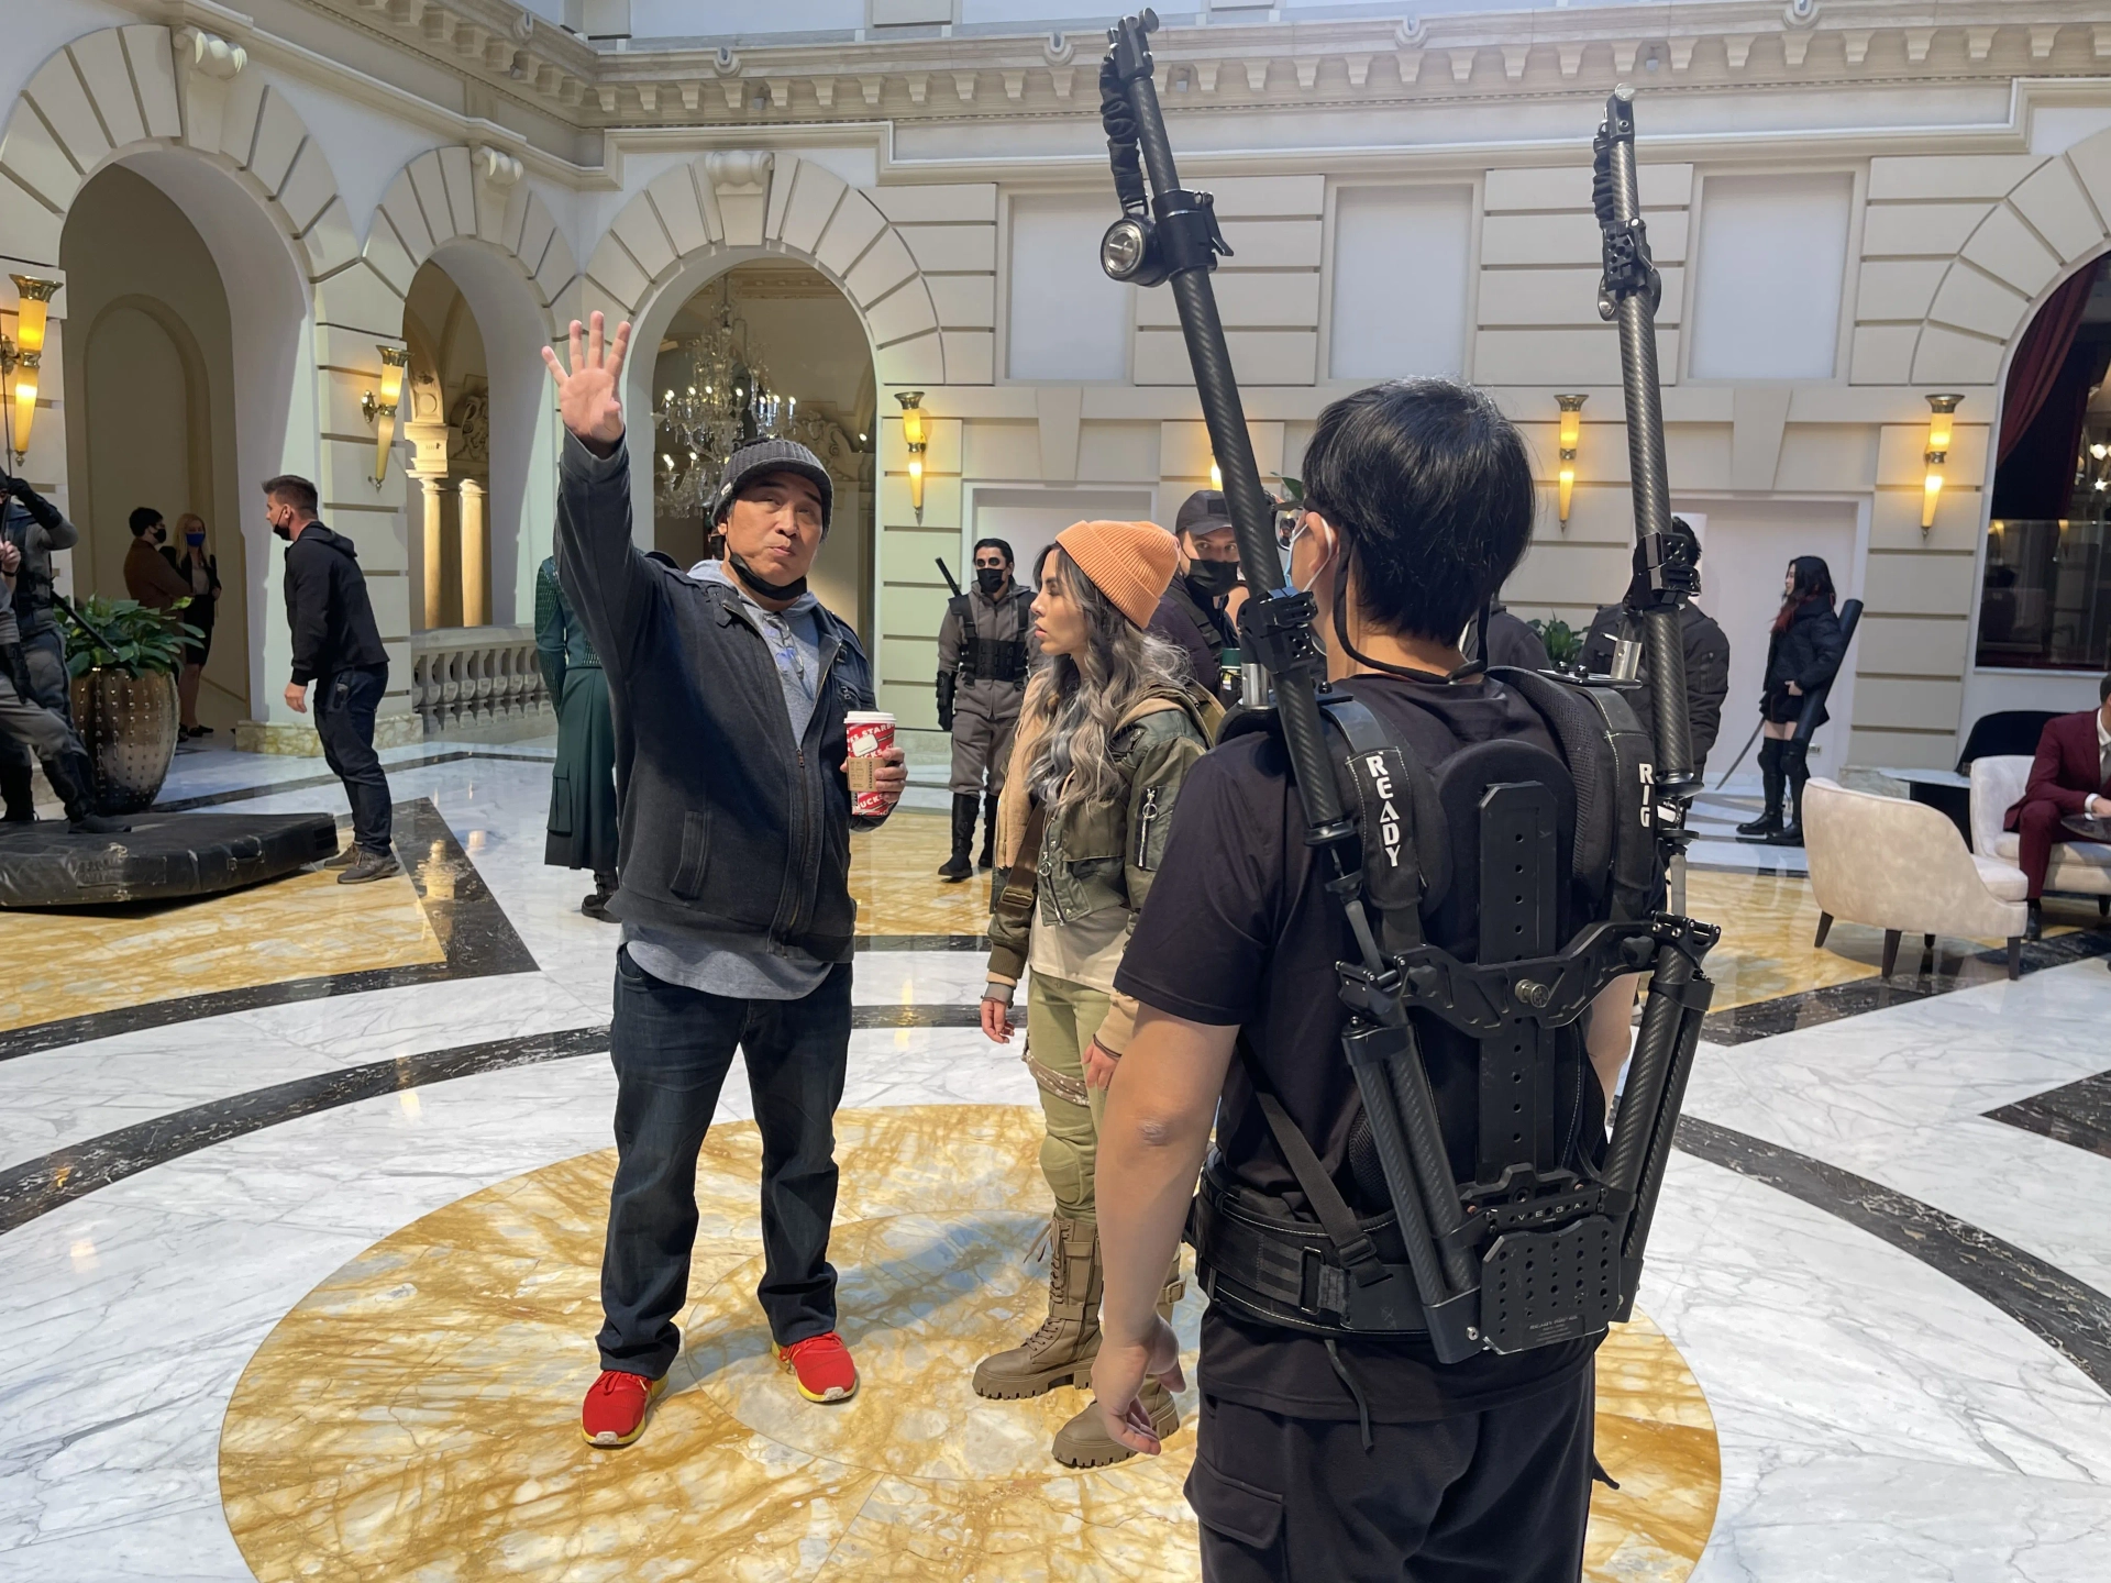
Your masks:
[{"label": "curved black marble floor band right of the man wearing the rig", "polygon": [[1678,1119],[1678,1148],[1913,1254],[1997,1307],[2111,1393],[2111,1298],[2094,1285],[1866,1176],[1699,1117]]}]

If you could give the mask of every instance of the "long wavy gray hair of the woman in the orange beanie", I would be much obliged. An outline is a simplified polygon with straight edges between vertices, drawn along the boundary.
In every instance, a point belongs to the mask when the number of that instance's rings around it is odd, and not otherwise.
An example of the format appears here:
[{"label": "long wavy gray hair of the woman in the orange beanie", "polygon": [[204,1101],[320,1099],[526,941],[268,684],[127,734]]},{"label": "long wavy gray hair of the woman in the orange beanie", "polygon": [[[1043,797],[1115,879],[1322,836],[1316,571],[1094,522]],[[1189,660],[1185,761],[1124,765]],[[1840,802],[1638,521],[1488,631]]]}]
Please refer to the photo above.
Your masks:
[{"label": "long wavy gray hair of the woman in the orange beanie", "polygon": [[1153,688],[1184,686],[1186,656],[1121,614],[1062,547],[1047,568],[1085,612],[1085,652],[1041,661],[1049,680],[1034,705],[1043,730],[1026,783],[1049,808],[1112,802],[1125,789],[1115,728]]}]

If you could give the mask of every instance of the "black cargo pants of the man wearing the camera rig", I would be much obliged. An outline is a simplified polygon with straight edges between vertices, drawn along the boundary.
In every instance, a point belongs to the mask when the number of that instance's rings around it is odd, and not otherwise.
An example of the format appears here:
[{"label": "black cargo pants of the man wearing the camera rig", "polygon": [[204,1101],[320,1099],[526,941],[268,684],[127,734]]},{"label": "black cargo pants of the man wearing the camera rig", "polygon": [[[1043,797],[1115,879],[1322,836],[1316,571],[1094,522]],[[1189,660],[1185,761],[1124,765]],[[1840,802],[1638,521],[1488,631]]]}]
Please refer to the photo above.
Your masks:
[{"label": "black cargo pants of the man wearing the camera rig", "polygon": [[1203,1583],[1577,1583],[1596,1380],[1372,1425],[1203,1395],[1186,1496]]}]

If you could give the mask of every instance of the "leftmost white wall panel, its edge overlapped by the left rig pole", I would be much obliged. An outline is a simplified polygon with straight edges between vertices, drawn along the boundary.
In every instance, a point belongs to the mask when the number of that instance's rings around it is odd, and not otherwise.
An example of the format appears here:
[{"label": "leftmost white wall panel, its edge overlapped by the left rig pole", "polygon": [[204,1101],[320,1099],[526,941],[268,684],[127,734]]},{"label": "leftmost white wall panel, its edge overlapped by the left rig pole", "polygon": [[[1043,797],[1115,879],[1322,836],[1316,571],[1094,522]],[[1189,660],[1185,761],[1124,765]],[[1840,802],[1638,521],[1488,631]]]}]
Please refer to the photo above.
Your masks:
[{"label": "leftmost white wall panel, its edge overlapped by the left rig pole", "polygon": [[1106,198],[1011,201],[1009,355],[1013,380],[1119,380],[1129,371],[1129,287],[1100,270]]}]

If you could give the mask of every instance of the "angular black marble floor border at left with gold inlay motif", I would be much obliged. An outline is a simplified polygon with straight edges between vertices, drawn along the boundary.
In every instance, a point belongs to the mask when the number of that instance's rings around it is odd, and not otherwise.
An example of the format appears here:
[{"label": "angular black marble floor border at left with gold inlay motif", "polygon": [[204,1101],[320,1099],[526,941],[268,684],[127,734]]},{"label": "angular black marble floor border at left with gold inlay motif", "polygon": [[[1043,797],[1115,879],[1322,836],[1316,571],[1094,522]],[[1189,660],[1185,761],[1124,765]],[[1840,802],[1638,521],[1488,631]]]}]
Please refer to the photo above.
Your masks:
[{"label": "angular black marble floor border at left with gold inlay motif", "polygon": [[[329,777],[331,783],[336,777]],[[251,984],[241,990],[179,994],[169,1000],[146,1000],[133,1007],[89,1011],[80,1017],[34,1022],[0,1032],[0,1062],[34,1055],[61,1045],[84,1045],[91,1038],[131,1034],[141,1028],[167,1028],[177,1022],[224,1017],[232,1011],[283,1007],[298,1000],[327,1000],[367,990],[399,990],[410,984],[445,984],[479,979],[498,973],[534,973],[536,960],[515,933],[498,897],[492,895],[469,853],[454,838],[445,817],[429,798],[395,804],[395,853],[418,891],[418,905],[448,954],[443,962],[410,967],[376,967],[359,973],[327,973],[279,984]],[[448,880],[439,884],[439,880]]]}]

